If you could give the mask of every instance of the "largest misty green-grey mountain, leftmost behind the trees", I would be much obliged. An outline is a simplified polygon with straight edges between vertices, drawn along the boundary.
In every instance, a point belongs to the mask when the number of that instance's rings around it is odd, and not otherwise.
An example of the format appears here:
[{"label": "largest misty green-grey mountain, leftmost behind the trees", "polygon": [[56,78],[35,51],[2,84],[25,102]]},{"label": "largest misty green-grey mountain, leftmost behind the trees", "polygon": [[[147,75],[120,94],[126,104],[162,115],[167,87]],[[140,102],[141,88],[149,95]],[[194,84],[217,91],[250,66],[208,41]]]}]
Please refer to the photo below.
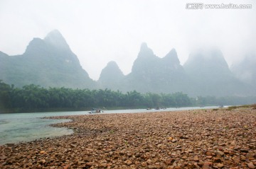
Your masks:
[{"label": "largest misty green-grey mountain, leftmost behind the trees", "polygon": [[0,79],[17,87],[31,83],[43,87],[95,86],[58,30],[48,33],[43,40],[33,38],[23,54],[1,53],[0,72]]}]

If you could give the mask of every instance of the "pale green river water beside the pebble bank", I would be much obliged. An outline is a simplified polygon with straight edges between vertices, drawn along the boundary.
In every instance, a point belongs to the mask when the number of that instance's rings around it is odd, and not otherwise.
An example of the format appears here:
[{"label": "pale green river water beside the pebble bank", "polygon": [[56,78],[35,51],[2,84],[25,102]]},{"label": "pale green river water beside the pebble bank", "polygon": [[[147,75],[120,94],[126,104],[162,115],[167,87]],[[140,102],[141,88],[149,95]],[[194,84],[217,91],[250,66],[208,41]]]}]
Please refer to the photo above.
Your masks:
[{"label": "pale green river water beside the pebble bank", "polygon": [[[110,113],[137,113],[137,112],[160,112],[160,111],[176,111],[176,110],[196,110],[196,109],[212,109],[210,107],[181,107],[167,108],[166,110],[104,110],[101,114]],[[68,122],[70,120],[49,120],[40,117],[53,117],[65,115],[90,115],[89,111],[82,112],[36,112],[36,113],[14,113],[0,114],[0,145],[8,143],[18,143],[21,141],[33,141],[35,139],[63,136],[72,134],[72,129],[50,127],[49,124],[60,122]]]}]

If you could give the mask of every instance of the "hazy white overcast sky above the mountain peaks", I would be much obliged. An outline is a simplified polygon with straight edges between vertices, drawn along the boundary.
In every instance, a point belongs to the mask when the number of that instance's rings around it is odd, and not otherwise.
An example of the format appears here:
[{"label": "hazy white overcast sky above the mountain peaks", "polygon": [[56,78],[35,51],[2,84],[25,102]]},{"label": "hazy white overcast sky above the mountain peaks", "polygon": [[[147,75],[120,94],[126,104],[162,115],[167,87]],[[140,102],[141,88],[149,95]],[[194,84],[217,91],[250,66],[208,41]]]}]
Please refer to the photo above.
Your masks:
[{"label": "hazy white overcast sky above the mountain peaks", "polygon": [[[252,4],[250,9],[186,9],[191,2]],[[198,47],[217,46],[228,64],[256,53],[255,1],[0,0],[0,51],[23,54],[33,37],[62,33],[80,64],[97,80],[115,61],[129,74],[140,45],[158,57],[172,48],[181,64]]]}]

